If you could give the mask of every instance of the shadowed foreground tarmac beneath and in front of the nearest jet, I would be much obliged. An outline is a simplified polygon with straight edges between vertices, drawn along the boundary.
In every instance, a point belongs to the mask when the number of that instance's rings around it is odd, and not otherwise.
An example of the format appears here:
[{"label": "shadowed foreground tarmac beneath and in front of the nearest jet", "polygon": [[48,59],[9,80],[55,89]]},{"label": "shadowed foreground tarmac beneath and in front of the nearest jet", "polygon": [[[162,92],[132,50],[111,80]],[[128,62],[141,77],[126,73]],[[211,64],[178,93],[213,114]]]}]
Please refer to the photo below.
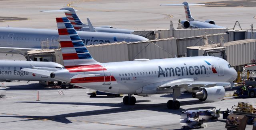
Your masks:
[{"label": "shadowed foreground tarmac beneath and in front of the nearest jet", "polygon": [[[174,130],[180,129],[180,111],[201,107],[226,108],[237,102],[248,102],[255,105],[255,98],[240,99],[228,95],[225,100],[204,103],[190,98],[191,94],[182,94],[178,99],[181,107],[178,110],[166,108],[170,94],[157,94],[150,97],[135,96],[135,106],[126,106],[122,97],[97,96],[90,98],[87,89],[44,88],[37,82],[5,83],[8,88],[6,100],[0,100],[1,130]],[[60,95],[62,90],[64,95]],[[39,91],[39,100],[37,92]],[[221,118],[222,119],[222,118]],[[207,130],[225,130],[225,122],[218,120],[206,124]],[[252,130],[247,125],[246,130]]]}]

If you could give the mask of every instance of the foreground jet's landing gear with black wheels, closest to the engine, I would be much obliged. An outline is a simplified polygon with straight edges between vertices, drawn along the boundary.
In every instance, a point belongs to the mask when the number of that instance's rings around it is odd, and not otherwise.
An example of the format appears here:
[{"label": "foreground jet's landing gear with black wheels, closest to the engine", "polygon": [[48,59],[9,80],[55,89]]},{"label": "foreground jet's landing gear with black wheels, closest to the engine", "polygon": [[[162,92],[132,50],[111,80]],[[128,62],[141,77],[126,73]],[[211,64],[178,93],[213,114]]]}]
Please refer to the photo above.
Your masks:
[{"label": "foreground jet's landing gear with black wheels, closest to the engine", "polygon": [[168,109],[179,109],[180,102],[176,99],[180,96],[180,88],[173,89],[173,100],[169,100],[166,103]]}]

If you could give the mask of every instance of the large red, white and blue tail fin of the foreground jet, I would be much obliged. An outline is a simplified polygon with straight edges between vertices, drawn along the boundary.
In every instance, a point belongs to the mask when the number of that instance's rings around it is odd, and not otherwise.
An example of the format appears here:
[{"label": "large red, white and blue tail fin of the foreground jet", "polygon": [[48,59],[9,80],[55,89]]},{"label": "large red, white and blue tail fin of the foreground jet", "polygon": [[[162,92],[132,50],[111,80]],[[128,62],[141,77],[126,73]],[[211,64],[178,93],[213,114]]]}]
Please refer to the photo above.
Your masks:
[{"label": "large red, white and blue tail fin of the foreground jet", "polygon": [[65,68],[99,64],[92,58],[68,18],[56,18],[56,22]]}]

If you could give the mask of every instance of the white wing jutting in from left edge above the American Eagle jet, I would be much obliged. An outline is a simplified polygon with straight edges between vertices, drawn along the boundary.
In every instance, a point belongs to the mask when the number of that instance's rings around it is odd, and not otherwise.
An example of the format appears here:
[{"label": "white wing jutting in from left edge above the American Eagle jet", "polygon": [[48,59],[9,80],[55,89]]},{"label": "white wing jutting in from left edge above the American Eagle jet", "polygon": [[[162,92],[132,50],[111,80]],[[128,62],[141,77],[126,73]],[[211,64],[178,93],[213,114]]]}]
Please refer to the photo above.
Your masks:
[{"label": "white wing jutting in from left edge above the American Eagle jet", "polygon": [[0,52],[9,52],[25,55],[30,50],[41,50],[36,48],[0,47]]}]

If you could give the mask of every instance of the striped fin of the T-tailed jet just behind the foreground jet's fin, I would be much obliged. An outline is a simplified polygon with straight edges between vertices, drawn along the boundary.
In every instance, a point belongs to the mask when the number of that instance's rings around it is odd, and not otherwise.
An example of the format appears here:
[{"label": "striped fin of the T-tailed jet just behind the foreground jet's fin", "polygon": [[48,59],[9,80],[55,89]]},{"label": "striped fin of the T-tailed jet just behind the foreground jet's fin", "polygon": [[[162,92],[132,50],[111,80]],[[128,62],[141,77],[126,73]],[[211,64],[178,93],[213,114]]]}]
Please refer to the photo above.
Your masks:
[{"label": "striped fin of the T-tailed jet just behind the foreground jet's fin", "polygon": [[87,24],[84,24],[80,18],[77,16],[76,11],[73,8],[61,8],[60,10],[68,10],[65,12],[66,17],[70,20],[71,24],[76,30],[81,29],[82,27],[87,27]]}]

